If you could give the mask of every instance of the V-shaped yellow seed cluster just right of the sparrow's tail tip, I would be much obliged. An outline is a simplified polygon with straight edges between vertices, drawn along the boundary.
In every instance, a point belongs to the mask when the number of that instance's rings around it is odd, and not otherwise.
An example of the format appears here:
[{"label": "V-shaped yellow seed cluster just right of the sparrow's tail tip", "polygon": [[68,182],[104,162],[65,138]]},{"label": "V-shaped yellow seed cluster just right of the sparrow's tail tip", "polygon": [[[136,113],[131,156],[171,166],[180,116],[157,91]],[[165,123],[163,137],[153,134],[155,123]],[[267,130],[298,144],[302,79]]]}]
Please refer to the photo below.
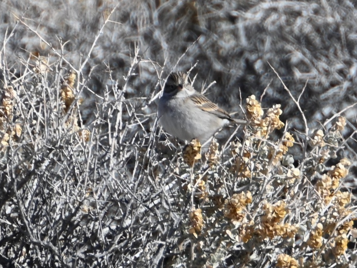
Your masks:
[{"label": "V-shaped yellow seed cluster just right of the sparrow's tail tip", "polygon": [[255,135],[267,137],[274,129],[281,129],[284,126],[284,123],[279,119],[279,116],[282,114],[280,104],[269,108],[265,118],[262,118],[264,111],[254,95],[249,96],[246,99],[246,103],[247,118],[251,120],[251,126]]}]

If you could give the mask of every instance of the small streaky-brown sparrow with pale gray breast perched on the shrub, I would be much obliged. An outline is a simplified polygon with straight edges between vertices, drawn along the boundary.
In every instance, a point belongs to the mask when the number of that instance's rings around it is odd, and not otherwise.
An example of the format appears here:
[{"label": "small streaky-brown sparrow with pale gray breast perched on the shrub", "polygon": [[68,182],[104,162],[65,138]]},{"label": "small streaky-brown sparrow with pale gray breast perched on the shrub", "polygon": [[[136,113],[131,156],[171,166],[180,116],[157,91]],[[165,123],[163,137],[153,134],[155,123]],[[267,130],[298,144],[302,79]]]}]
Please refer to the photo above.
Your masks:
[{"label": "small streaky-brown sparrow with pale gray breast perched on the shrub", "polygon": [[157,115],[162,127],[182,140],[196,138],[205,143],[217,129],[234,122],[246,124],[245,120],[233,119],[188,83],[187,74],[171,73],[160,98]]}]

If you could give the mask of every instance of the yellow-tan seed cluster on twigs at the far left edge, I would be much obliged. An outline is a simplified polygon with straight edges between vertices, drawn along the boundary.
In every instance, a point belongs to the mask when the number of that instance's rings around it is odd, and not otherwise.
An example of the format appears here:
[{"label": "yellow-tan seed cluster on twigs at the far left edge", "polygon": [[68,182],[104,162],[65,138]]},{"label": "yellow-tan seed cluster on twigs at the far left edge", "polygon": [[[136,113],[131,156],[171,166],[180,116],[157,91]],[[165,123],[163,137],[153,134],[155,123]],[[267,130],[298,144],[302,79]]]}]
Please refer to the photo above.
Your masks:
[{"label": "yellow-tan seed cluster on twigs at the far left edge", "polygon": [[10,138],[20,138],[22,128],[20,124],[15,124],[11,129],[9,124],[14,118],[12,108],[17,94],[12,86],[5,86],[0,105],[0,151],[5,150],[9,145]]}]

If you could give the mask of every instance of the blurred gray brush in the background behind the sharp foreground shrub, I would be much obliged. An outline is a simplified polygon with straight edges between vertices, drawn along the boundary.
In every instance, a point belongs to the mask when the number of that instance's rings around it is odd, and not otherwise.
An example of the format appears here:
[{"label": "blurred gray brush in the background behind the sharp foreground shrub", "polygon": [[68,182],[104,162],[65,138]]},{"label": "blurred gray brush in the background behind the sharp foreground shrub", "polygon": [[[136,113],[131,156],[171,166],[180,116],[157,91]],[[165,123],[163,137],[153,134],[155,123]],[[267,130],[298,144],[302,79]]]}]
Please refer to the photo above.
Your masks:
[{"label": "blurred gray brush in the background behind the sharp foreground shrub", "polygon": [[[265,105],[281,103],[283,119],[301,128],[296,105],[283,89],[270,63],[301,107],[311,126],[356,102],[357,11],[355,1],[120,1],[90,55],[86,70],[93,69],[89,87],[101,92],[108,82],[104,63],[119,80],[130,66],[134,43],[142,59],[151,59],[172,70],[188,70],[198,61],[196,90],[202,81],[216,81],[208,93],[224,108],[238,111],[239,89],[243,101],[254,94]],[[10,32],[16,18],[23,16],[55,48],[68,43],[64,57],[78,66],[88,53],[103,24],[103,13],[115,1],[2,1],[0,39]],[[6,45],[9,66],[29,53],[52,56],[37,35],[17,25]],[[200,39],[197,38],[200,36]],[[197,41],[196,41],[197,40]],[[196,41],[195,44],[192,43]],[[83,59],[82,59],[83,60]],[[149,64],[136,70],[130,83],[136,96],[147,96],[157,79]],[[90,98],[90,94],[88,98]],[[354,109],[347,111],[354,122]],[[300,120],[298,120],[300,121]]]}]

